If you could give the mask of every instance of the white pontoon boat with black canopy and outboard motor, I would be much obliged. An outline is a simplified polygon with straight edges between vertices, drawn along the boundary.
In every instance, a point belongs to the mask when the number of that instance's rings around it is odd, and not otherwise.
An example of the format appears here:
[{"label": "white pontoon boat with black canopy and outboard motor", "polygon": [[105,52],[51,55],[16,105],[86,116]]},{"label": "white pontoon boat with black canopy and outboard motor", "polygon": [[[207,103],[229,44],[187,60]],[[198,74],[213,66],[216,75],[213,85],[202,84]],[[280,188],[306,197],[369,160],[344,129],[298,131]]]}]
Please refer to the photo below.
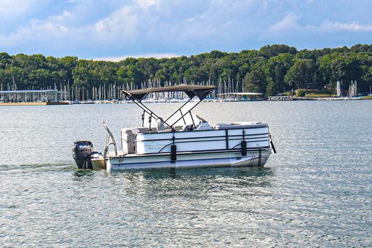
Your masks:
[{"label": "white pontoon boat with black canopy and outboard motor", "polygon": [[[275,152],[266,123],[231,122],[211,126],[192,114],[194,107],[214,88],[175,85],[123,90],[123,94],[143,110],[141,127],[121,130],[119,150],[112,132],[104,123],[107,139],[103,154],[92,152],[93,146],[89,141],[76,141],[73,149],[76,164],[81,169],[105,167],[109,172],[161,167],[264,166],[271,152]],[[148,94],[156,92],[185,92],[189,100],[165,119],[141,102]],[[195,98],[194,105],[187,108]]]}]

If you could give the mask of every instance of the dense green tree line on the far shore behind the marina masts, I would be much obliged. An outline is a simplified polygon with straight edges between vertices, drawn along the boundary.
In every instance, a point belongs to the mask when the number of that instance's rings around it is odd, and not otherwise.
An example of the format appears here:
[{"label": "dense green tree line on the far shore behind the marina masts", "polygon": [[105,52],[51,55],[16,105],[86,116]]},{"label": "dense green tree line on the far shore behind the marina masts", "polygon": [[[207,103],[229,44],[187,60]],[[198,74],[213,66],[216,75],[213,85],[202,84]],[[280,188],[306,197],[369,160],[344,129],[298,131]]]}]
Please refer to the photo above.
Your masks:
[{"label": "dense green tree line on the far shore behind the marina masts", "polygon": [[321,90],[342,81],[347,90],[358,81],[359,92],[372,85],[372,45],[351,48],[297,50],[289,45],[265,45],[241,52],[211,51],[169,59],[127,58],[118,62],[78,59],[76,56],[9,55],[0,53],[0,84],[12,81],[19,90],[131,85],[146,81],[171,84],[241,82],[245,91],[273,96],[291,89]]}]

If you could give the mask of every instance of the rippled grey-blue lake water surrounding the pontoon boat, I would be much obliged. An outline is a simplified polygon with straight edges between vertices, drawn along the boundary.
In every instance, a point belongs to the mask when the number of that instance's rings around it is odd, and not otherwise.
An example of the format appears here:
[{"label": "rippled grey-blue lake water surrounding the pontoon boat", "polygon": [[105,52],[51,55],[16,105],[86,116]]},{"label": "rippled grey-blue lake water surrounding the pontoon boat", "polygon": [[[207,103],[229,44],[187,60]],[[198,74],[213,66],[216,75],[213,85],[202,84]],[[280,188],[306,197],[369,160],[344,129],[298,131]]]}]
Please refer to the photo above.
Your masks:
[{"label": "rippled grey-blue lake water surrounding the pontoon boat", "polygon": [[[152,104],[170,114],[178,104]],[[0,246],[371,247],[372,101],[202,103],[210,123],[262,121],[263,168],[78,172],[132,104],[0,107]]]}]

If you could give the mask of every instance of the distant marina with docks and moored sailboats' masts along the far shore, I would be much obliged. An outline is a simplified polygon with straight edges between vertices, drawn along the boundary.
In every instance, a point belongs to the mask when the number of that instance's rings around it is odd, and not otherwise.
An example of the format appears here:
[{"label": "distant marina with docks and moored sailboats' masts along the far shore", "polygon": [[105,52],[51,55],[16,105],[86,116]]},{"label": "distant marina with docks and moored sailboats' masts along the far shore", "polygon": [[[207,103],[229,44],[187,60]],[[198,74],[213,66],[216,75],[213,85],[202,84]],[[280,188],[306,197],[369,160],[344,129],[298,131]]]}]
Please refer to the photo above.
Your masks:
[{"label": "distant marina with docks and moored sailboats' masts along the far shore", "polygon": [[[60,83],[59,90],[56,84],[54,89],[48,87],[48,89],[41,90],[18,90],[17,84],[12,76],[12,84],[7,85],[7,90],[3,90],[3,84],[1,84],[0,90],[0,106],[1,105],[70,105],[70,104],[102,104],[102,103],[135,103],[133,99],[126,99],[123,92],[128,90],[144,90],[147,88],[156,87],[177,87],[177,85],[185,85],[185,82],[180,84],[172,84],[169,81],[162,83],[160,80],[145,81],[141,85],[134,85],[133,83],[125,85],[116,85],[110,83],[109,85],[101,85],[99,87],[75,87],[70,86],[70,82],[67,85]],[[214,87],[216,90],[211,92],[211,95],[203,99],[204,101],[211,102],[236,102],[236,101],[335,101],[335,100],[364,100],[372,99],[371,96],[359,96],[357,81],[351,81],[347,96],[342,96],[340,81],[337,81],[334,90],[336,95],[329,96],[300,96],[299,91],[294,94],[293,89],[291,92],[278,94],[277,96],[265,96],[260,92],[240,92],[245,89],[245,81],[242,79],[234,81],[234,79],[228,79],[228,81],[218,81],[215,85],[214,81],[203,81],[195,82],[192,81],[190,86],[194,87]],[[302,90],[304,91],[304,90]],[[288,94],[290,93],[290,94]],[[371,95],[371,87],[370,94]],[[187,94],[185,92],[152,92],[146,95],[144,99],[141,99],[143,103],[185,103],[189,102]]]}]

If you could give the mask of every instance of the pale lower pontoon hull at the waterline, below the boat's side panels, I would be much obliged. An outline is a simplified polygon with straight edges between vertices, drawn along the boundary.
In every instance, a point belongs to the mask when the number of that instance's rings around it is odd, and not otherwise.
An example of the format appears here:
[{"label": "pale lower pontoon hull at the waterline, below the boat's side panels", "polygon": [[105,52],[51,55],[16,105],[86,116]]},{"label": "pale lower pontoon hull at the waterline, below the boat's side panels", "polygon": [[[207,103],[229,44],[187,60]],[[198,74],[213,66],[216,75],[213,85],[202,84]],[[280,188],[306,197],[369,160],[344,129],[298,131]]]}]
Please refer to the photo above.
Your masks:
[{"label": "pale lower pontoon hull at the waterline, below the boat's side panels", "polygon": [[177,154],[175,161],[170,154],[112,156],[107,159],[107,171],[150,168],[195,168],[195,167],[251,167],[264,166],[271,154],[271,147],[247,151],[203,152]]}]

